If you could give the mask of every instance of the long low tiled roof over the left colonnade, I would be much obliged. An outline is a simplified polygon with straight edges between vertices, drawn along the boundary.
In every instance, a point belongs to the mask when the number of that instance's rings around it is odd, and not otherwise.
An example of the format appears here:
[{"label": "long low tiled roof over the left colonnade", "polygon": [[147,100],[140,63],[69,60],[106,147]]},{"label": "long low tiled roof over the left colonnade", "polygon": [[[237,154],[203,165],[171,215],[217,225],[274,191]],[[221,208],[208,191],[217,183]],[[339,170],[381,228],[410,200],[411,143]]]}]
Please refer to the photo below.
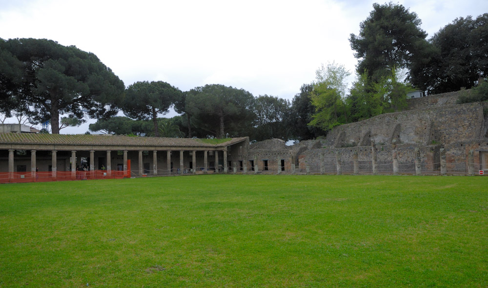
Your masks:
[{"label": "long low tiled roof over the left colonnade", "polygon": [[168,146],[168,147],[224,147],[244,141],[246,137],[231,138],[220,144],[209,144],[194,138],[131,137],[121,135],[67,135],[0,133],[0,144],[55,144],[55,145],[113,145],[113,146]]}]

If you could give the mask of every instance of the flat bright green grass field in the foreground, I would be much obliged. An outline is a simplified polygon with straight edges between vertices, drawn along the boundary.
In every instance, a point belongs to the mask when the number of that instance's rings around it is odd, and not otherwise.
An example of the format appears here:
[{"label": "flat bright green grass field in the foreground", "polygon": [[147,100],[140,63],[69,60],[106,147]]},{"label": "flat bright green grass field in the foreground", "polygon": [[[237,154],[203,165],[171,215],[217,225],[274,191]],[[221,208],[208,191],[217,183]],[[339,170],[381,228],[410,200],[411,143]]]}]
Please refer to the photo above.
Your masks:
[{"label": "flat bright green grass field in the foreground", "polygon": [[484,287],[485,177],[0,185],[0,287]]}]

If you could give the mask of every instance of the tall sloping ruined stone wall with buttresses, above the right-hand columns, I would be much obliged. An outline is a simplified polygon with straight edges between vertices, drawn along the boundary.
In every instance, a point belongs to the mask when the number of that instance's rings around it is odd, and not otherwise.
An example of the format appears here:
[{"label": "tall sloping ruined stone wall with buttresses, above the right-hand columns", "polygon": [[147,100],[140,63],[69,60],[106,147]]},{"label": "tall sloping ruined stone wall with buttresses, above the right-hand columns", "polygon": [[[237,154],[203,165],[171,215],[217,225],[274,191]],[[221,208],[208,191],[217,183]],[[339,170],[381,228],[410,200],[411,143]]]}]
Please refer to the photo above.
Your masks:
[{"label": "tall sloping ruined stone wall with buttresses, above the right-hand columns", "polygon": [[335,127],[327,134],[329,147],[364,146],[370,141],[391,144],[450,143],[477,139],[486,134],[483,105],[479,102],[455,106],[382,114]]}]

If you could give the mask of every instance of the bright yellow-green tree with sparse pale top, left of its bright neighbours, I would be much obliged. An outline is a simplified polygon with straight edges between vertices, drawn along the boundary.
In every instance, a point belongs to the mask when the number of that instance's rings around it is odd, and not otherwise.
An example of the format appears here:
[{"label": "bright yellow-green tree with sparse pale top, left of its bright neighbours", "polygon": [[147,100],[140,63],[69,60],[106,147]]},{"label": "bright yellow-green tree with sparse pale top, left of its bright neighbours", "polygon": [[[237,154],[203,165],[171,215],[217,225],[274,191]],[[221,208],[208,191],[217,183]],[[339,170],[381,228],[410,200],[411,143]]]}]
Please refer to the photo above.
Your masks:
[{"label": "bright yellow-green tree with sparse pale top, left of its bright neighbours", "polygon": [[329,63],[316,72],[317,82],[310,95],[316,113],[309,125],[325,131],[347,123],[347,107],[344,103],[346,77],[350,74],[343,65]]}]

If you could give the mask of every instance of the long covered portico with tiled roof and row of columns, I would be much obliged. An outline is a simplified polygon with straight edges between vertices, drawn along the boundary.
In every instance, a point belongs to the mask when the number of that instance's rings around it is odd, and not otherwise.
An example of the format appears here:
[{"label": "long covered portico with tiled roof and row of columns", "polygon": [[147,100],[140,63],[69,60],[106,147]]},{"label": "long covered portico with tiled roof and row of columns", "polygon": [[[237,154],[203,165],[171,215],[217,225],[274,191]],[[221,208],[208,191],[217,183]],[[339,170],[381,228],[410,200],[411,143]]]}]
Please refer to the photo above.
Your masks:
[{"label": "long covered portico with tiled roof and row of columns", "polygon": [[78,179],[78,174],[89,179],[97,173],[108,178],[227,173],[227,151],[248,142],[248,137],[210,144],[193,138],[0,133],[0,182]]}]

